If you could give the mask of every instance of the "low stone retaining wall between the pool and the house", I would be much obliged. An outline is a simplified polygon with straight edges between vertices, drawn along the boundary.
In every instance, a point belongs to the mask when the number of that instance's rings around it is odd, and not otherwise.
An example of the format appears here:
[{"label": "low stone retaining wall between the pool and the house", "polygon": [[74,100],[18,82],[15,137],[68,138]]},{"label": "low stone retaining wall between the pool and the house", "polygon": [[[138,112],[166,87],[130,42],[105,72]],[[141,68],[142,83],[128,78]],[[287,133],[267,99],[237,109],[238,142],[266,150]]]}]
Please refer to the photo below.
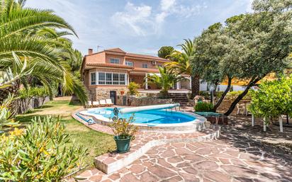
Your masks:
[{"label": "low stone retaining wall between the pool and the house", "polygon": [[120,106],[150,106],[172,103],[172,98],[162,99],[157,97],[118,96],[117,105]]}]

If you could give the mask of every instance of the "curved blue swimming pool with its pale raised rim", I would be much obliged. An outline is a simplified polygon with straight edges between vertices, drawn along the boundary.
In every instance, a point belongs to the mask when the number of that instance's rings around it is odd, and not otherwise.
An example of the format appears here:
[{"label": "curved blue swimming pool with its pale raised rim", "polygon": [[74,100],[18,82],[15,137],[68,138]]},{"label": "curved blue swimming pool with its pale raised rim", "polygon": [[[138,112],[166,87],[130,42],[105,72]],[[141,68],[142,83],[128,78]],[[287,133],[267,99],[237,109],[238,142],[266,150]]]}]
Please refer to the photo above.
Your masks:
[{"label": "curved blue swimming pool with its pale raised rim", "polygon": [[[119,108],[123,109],[123,108]],[[112,122],[113,108],[90,108],[80,111],[79,114],[90,116],[96,123],[108,125]],[[151,130],[203,130],[209,127],[206,118],[195,113],[181,112],[174,109],[140,110],[133,113],[118,113],[119,118],[130,118],[134,114],[134,125],[141,129]],[[208,124],[208,125],[207,125]]]}]

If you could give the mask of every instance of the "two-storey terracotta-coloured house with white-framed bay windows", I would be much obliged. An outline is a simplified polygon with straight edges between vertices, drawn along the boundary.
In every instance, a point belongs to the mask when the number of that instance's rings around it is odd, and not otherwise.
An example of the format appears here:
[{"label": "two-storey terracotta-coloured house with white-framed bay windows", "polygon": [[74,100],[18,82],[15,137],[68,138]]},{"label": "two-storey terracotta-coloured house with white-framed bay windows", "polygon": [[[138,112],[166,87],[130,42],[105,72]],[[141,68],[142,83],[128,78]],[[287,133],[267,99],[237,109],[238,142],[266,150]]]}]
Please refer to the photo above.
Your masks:
[{"label": "two-storey terracotta-coloured house with white-framed bay windows", "polygon": [[[92,101],[104,98],[114,101],[117,95],[127,92],[130,81],[140,84],[140,89],[157,89],[155,85],[148,84],[145,77],[159,73],[158,67],[166,62],[169,60],[128,53],[120,48],[96,53],[89,49],[82,62],[82,80]],[[189,84],[184,82],[177,83],[174,89],[188,89],[184,85]]]}]

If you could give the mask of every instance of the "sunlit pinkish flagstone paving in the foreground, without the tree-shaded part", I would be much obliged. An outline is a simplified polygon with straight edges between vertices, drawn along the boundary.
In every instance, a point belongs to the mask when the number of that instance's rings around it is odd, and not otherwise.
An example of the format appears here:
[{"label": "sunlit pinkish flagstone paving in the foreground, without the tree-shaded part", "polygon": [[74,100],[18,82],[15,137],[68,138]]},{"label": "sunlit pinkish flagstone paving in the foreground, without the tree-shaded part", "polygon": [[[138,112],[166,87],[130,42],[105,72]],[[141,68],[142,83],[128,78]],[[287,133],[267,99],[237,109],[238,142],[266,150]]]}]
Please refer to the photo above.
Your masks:
[{"label": "sunlit pinkish flagstone paving in the foreground, without the tree-shaded part", "polygon": [[256,148],[240,152],[222,140],[164,144],[113,174],[93,169],[79,177],[86,178],[81,181],[122,182],[292,181],[291,166],[257,152]]}]

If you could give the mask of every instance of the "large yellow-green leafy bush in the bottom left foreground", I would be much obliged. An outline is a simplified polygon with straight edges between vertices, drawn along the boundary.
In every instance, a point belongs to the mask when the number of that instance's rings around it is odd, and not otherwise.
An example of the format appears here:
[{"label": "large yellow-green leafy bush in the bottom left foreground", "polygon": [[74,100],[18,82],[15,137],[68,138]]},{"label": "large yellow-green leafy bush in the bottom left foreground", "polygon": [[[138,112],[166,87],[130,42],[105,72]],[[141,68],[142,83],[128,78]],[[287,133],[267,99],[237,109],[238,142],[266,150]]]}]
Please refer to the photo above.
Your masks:
[{"label": "large yellow-green leafy bush in the bottom left foreground", "polygon": [[61,181],[83,165],[87,149],[76,147],[60,118],[34,118],[26,130],[0,140],[1,181]]}]

